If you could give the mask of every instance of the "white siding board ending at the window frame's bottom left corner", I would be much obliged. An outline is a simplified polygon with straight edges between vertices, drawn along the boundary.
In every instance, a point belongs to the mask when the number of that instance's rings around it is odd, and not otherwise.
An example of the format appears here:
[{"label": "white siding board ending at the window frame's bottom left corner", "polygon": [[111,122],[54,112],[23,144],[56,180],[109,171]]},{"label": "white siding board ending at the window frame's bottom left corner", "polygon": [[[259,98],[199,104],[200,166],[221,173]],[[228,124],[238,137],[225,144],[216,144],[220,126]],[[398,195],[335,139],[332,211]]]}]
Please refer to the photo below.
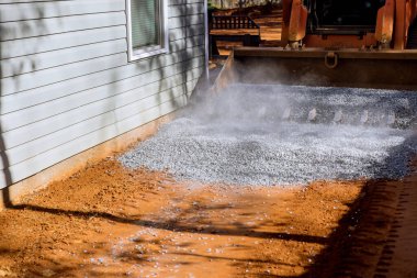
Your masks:
[{"label": "white siding board ending at the window frame's bottom left corner", "polygon": [[18,77],[8,77],[1,79],[1,86],[3,88],[2,93],[3,96],[7,96],[19,91],[30,90],[32,88],[64,81],[66,79],[119,67],[125,64],[127,64],[127,54],[121,53],[29,73]]}]

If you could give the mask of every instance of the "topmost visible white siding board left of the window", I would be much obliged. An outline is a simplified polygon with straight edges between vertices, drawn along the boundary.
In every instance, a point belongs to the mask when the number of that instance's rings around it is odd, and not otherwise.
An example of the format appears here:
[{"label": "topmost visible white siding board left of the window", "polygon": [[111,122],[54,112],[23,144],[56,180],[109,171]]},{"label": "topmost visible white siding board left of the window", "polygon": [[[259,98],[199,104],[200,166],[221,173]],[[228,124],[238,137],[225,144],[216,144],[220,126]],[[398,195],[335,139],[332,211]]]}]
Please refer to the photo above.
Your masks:
[{"label": "topmost visible white siding board left of the window", "polygon": [[84,13],[124,11],[123,0],[49,1],[0,7],[0,22],[57,18]]}]

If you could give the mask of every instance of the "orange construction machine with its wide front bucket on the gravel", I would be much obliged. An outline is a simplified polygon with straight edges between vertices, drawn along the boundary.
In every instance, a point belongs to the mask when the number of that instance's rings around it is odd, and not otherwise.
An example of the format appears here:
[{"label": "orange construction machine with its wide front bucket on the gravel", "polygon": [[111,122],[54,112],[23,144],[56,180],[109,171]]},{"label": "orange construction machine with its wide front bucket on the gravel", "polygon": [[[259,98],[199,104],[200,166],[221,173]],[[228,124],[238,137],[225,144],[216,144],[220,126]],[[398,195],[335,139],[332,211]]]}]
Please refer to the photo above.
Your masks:
[{"label": "orange construction machine with its wide front bucket on the gravel", "polygon": [[417,0],[282,0],[280,47],[239,47],[236,82],[417,90]]}]

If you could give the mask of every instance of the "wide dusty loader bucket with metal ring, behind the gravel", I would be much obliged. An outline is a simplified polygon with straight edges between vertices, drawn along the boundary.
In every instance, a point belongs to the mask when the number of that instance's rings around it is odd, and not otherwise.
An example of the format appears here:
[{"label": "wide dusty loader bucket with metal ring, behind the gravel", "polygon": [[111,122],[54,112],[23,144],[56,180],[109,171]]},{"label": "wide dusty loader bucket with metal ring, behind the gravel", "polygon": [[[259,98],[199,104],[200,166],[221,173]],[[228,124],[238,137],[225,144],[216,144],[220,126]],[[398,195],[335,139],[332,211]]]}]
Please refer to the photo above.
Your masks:
[{"label": "wide dusty loader bucket with metal ring, behind the gravel", "polygon": [[417,51],[241,47],[213,89],[233,82],[417,91]]}]

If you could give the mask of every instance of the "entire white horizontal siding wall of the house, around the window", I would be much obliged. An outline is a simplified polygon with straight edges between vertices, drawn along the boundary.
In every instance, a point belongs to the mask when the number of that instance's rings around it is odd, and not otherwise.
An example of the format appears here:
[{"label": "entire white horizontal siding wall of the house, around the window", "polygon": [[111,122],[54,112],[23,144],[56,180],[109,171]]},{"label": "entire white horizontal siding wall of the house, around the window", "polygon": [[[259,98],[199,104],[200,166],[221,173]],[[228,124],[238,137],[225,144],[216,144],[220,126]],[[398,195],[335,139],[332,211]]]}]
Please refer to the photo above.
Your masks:
[{"label": "entire white horizontal siding wall of the house, around the window", "polygon": [[165,4],[169,51],[129,63],[126,0],[0,0],[0,189],[187,104],[204,4]]}]

